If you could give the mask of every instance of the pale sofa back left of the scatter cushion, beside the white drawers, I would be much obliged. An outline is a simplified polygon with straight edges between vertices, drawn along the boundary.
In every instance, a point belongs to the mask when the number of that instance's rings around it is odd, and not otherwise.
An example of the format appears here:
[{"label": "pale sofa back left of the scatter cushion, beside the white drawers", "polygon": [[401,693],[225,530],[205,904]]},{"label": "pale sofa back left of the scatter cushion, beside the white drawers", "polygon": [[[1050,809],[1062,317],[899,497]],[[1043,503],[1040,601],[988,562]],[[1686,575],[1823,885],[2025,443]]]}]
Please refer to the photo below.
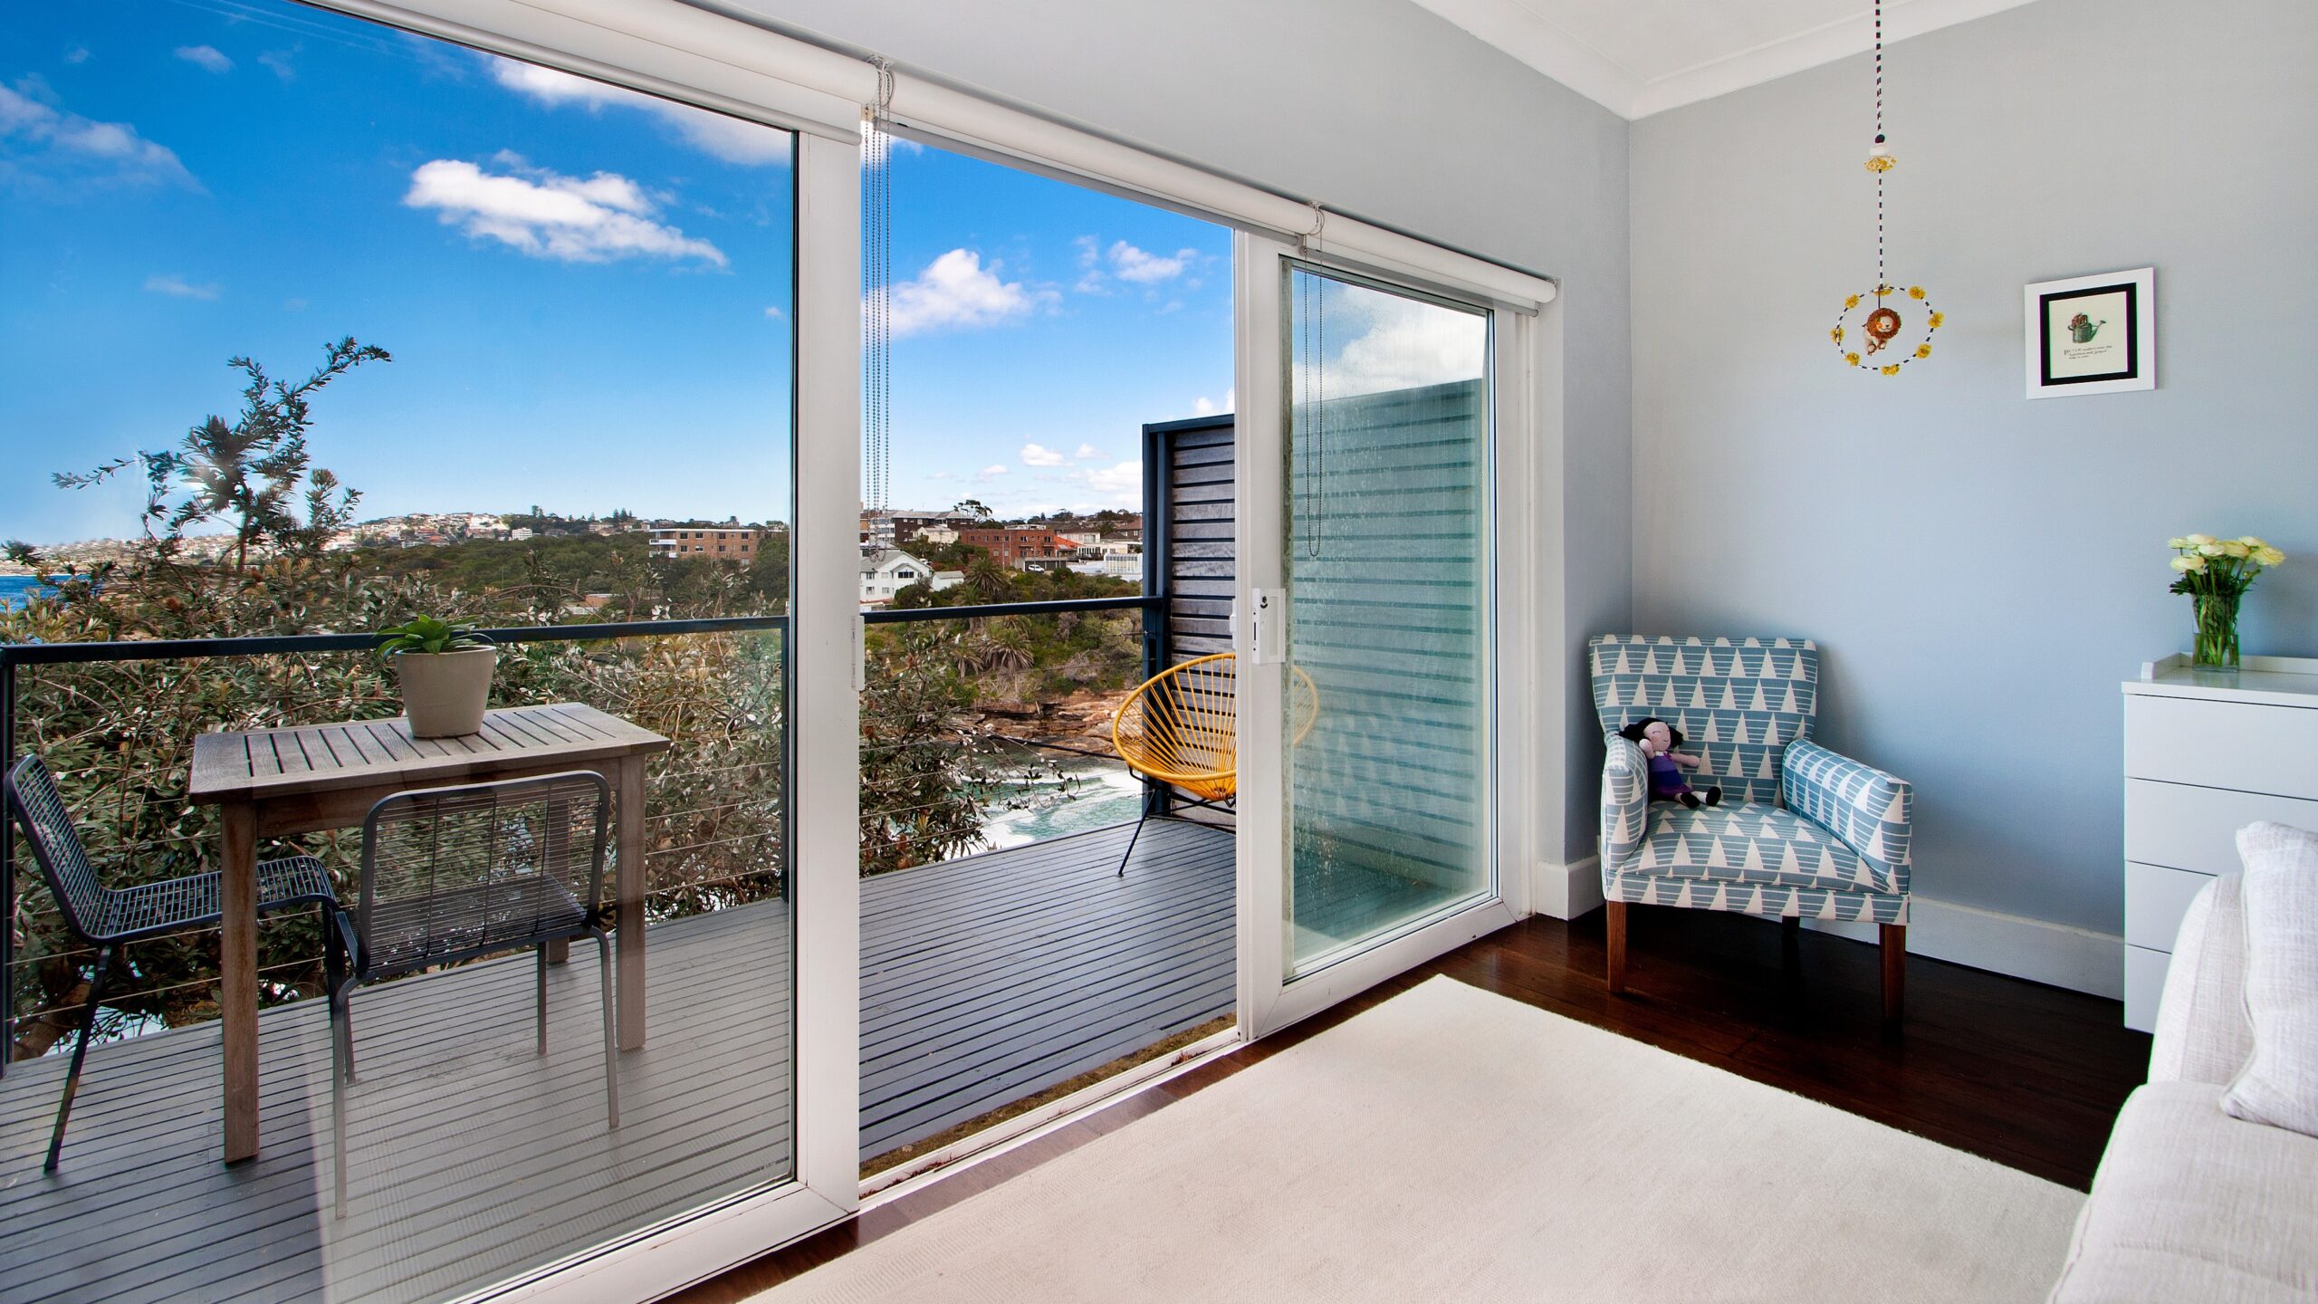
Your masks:
[{"label": "pale sofa back left of the scatter cushion, beside the white drawers", "polygon": [[2149,1044],[2149,1081],[2223,1086],[2246,1067],[2246,914],[2239,875],[2204,884],[2181,917]]}]

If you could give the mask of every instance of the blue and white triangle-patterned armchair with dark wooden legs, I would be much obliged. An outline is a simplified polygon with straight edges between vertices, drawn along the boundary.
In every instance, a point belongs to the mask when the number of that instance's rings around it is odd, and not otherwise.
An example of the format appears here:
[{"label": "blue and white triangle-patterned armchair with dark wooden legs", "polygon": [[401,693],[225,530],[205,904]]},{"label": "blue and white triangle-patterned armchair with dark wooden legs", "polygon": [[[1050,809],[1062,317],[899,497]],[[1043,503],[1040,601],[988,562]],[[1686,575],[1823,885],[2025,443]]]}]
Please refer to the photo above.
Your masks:
[{"label": "blue and white triangle-patterned armchair with dark wooden legs", "polygon": [[[1885,1019],[1901,1016],[1915,789],[1810,740],[1820,650],[1806,638],[1602,636],[1592,645],[1602,766],[1609,988],[1625,991],[1625,907],[1688,905],[1785,921],[1878,923]],[[1690,784],[1722,805],[1650,805],[1637,719],[1678,729]]]}]

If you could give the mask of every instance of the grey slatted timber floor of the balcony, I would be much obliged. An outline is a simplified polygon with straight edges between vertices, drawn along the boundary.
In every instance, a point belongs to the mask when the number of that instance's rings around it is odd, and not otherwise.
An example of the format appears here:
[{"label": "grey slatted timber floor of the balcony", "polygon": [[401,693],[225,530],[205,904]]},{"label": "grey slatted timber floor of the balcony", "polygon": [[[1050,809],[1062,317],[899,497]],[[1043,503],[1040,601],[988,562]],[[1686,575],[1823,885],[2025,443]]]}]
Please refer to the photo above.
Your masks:
[{"label": "grey slatted timber floor of the balcony", "polygon": [[[1154,821],[862,884],[862,1153],[1229,1014],[1231,833]],[[320,1002],[260,1019],[262,1153],[218,1162],[218,1030],[95,1046],[65,1162],[39,1172],[65,1058],[0,1079],[9,1302],[440,1299],[788,1172],[788,917],[651,928],[651,1039],[603,1128],[596,956],[549,977],[533,1056],[524,956],[364,988],[350,1204],[329,1211]]]}]

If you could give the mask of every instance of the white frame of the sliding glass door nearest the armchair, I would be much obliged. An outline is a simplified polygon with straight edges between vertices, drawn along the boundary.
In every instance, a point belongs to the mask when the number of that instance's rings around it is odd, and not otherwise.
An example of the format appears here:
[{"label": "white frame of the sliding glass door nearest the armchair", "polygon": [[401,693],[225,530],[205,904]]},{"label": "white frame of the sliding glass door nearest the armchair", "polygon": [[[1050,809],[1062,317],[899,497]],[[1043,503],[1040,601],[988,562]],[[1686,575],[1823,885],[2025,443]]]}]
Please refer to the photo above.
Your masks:
[{"label": "white frame of the sliding glass door nearest the armchair", "polygon": [[[1293,921],[1286,893],[1291,865],[1289,794],[1284,777],[1286,613],[1259,615],[1286,592],[1289,350],[1286,278],[1293,267],[1342,274],[1414,297],[1435,297],[1490,313],[1490,886],[1444,914],[1412,921],[1379,942],[1305,975],[1293,968]],[[1342,260],[1324,251],[1240,232],[1233,241],[1233,299],[1238,316],[1238,538],[1240,582],[1233,620],[1240,724],[1240,1028],[1247,1037],[1277,1033],[1528,914],[1530,865],[1537,863],[1535,803],[1511,800],[1537,791],[1535,668],[1537,647],[1537,510],[1532,494],[1537,443],[1537,311],[1507,304],[1472,285],[1442,285],[1412,269],[1379,267],[1372,258]],[[1256,664],[1259,643],[1263,664]],[[1511,668],[1511,673],[1509,673]]]}]

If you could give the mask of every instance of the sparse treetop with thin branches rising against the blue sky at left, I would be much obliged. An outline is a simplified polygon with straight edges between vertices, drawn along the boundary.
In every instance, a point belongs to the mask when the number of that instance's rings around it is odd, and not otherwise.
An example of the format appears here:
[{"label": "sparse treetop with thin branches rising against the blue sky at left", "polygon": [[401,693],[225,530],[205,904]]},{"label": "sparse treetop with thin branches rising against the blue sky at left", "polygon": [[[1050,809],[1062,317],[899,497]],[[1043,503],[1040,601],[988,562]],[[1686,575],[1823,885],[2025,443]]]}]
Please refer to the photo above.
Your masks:
[{"label": "sparse treetop with thin branches rising against the blue sky at left", "polygon": [[[297,385],[267,376],[248,357],[232,357],[227,367],[248,378],[234,425],[211,415],[185,432],[176,448],[134,452],[95,471],[58,473],[56,485],[83,490],[127,466],[144,466],[146,538],[174,557],[188,527],[227,520],[234,527],[234,575],[248,568],[250,548],[315,555],[352,524],[362,494],[341,487],[329,469],[313,466],[306,450],[306,432],[313,429],[308,397],[364,362],[392,362],[385,348],[355,343],[352,336],[322,353],[322,367]],[[294,506],[301,497],[304,517]]]}]

